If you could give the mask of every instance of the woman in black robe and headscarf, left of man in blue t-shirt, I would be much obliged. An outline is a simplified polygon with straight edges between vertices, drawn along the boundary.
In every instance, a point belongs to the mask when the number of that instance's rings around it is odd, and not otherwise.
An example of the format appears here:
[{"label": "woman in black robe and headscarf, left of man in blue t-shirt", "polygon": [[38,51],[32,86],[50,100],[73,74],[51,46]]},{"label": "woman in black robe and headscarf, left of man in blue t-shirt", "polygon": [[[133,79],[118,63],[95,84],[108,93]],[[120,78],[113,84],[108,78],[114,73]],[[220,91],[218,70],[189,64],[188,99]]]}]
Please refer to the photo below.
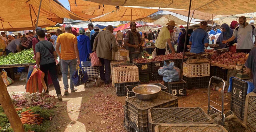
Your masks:
[{"label": "woman in black robe and headscarf, left of man in blue t-shirt", "polygon": [[[188,49],[188,47],[189,47],[189,39],[190,39],[192,32],[193,32],[193,29],[188,29],[188,36],[187,36],[187,42],[186,42],[186,45],[188,45],[188,46],[186,47],[186,49]],[[185,30],[185,32],[180,34],[180,39],[179,39],[178,47],[177,47],[177,53],[183,52],[184,44],[185,44],[185,37],[186,37],[186,30]],[[185,50],[185,51],[187,51],[187,50]]]}]

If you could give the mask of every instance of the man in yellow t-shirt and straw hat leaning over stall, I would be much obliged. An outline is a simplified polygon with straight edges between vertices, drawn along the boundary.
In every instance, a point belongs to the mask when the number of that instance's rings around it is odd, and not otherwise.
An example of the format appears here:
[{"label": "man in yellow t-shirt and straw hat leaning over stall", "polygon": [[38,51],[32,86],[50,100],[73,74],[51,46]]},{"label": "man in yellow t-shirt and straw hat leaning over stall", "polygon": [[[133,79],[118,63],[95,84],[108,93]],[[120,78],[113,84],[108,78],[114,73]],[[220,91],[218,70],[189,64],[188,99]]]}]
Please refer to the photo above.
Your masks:
[{"label": "man in yellow t-shirt and straw hat leaning over stall", "polygon": [[171,36],[169,30],[174,29],[174,26],[176,26],[174,21],[169,21],[169,23],[166,24],[167,26],[163,27],[156,39],[156,55],[165,55],[165,45],[166,42],[168,43],[169,47],[172,50],[172,54],[175,53],[174,49],[172,48],[171,43]]}]

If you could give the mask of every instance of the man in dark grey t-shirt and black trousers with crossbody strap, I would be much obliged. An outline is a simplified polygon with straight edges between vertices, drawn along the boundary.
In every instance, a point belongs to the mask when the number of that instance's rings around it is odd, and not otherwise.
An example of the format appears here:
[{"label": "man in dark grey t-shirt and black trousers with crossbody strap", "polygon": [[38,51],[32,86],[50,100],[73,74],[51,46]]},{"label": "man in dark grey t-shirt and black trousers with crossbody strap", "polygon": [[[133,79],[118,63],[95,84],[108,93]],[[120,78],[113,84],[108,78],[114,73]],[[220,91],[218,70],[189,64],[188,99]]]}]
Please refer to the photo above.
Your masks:
[{"label": "man in dark grey t-shirt and black trousers with crossbody strap", "polygon": [[[45,33],[44,30],[36,31],[37,38],[40,40],[36,44],[36,66],[40,66],[40,70],[44,72],[44,82],[48,86],[48,71],[52,78],[52,82],[58,96],[58,100],[62,100],[60,92],[60,83],[56,70],[56,59],[57,53],[50,41],[44,39]],[[49,93],[48,87],[45,93]]]}]

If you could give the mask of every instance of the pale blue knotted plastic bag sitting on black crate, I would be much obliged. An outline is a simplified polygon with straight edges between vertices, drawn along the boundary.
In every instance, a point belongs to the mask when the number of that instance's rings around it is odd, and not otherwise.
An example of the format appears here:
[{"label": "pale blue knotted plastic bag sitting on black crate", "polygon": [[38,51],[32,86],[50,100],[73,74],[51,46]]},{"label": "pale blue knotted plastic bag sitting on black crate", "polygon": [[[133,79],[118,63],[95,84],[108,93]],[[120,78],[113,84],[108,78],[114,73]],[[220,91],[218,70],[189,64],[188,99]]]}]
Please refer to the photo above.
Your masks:
[{"label": "pale blue knotted plastic bag sitting on black crate", "polygon": [[164,61],[164,66],[158,69],[158,74],[163,76],[165,82],[176,82],[180,80],[180,69],[174,66],[174,62],[167,64]]}]

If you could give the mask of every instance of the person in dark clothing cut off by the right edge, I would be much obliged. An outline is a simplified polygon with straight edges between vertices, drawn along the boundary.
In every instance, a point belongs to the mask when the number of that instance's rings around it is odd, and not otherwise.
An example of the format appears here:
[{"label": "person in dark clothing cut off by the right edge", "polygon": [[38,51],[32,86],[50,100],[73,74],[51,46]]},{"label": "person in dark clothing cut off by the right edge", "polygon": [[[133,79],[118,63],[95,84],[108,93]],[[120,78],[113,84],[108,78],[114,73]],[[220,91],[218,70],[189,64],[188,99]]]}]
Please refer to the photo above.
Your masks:
[{"label": "person in dark clothing cut off by the right edge", "polygon": [[253,92],[256,92],[256,47],[254,46],[245,62],[246,73],[252,78],[254,84]]}]

